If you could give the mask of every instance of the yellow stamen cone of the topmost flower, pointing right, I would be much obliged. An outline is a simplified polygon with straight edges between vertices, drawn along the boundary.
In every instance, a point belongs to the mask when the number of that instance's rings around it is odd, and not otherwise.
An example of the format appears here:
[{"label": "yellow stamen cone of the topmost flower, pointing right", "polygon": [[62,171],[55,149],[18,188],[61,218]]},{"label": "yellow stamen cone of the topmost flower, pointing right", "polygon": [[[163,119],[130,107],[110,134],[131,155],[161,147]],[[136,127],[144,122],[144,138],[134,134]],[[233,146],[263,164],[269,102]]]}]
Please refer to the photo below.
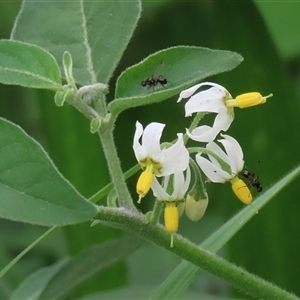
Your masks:
[{"label": "yellow stamen cone of the topmost flower, pointing right", "polygon": [[239,108],[251,107],[266,103],[267,98],[270,98],[272,96],[273,94],[269,94],[268,96],[263,97],[260,93],[257,92],[245,93],[237,96],[235,99],[226,100],[226,106]]}]

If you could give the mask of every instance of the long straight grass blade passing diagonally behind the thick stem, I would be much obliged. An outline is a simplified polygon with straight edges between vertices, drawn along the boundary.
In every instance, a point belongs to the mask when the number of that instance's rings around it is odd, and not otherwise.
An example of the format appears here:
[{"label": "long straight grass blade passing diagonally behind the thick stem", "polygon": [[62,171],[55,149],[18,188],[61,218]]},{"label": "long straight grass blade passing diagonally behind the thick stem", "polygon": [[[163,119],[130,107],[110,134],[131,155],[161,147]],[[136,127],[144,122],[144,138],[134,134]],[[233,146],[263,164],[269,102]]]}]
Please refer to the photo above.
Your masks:
[{"label": "long straight grass blade passing diagonally behind the thick stem", "polygon": [[[263,193],[253,204],[245,206],[227,221],[200,247],[212,253],[218,252],[257,212],[284,187],[300,175],[300,166],[278,181]],[[201,269],[187,261],[182,261],[170,276],[161,284],[151,299],[181,299],[188,287],[201,273]]]}]

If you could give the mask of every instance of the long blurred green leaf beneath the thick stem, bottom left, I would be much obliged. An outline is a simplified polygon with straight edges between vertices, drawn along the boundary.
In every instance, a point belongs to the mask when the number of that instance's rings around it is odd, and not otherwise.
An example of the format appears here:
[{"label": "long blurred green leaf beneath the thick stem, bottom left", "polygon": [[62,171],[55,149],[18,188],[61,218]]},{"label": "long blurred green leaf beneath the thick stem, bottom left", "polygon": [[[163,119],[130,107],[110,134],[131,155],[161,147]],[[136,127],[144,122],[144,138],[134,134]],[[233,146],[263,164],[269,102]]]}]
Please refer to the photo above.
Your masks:
[{"label": "long blurred green leaf beneath the thick stem, bottom left", "polygon": [[130,236],[91,246],[67,261],[31,274],[15,290],[12,299],[33,299],[33,295],[34,299],[57,299],[98,271],[125,258],[142,243],[142,239]]}]

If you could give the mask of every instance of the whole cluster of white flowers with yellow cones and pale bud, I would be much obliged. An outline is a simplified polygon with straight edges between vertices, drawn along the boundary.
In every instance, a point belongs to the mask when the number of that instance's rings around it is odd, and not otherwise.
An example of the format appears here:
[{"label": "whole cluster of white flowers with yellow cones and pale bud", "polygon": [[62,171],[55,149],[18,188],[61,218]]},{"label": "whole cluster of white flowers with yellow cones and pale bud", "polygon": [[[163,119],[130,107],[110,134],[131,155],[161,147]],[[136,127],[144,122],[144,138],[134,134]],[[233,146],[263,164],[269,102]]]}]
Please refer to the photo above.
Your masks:
[{"label": "whole cluster of white flowers with yellow cones and pale bud", "polygon": [[[205,86],[209,88],[197,92]],[[257,92],[252,92],[233,99],[223,86],[211,82],[200,83],[182,91],[178,102],[189,98],[185,104],[185,116],[194,113],[198,113],[197,116],[200,117],[207,113],[215,114],[212,126],[200,125],[186,129],[186,135],[190,139],[206,143],[206,147],[201,148],[188,150],[182,133],[177,134],[174,144],[161,144],[165,124],[153,122],[143,129],[143,126],[136,122],[133,150],[143,169],[136,186],[138,203],[152,189],[156,199],[165,203],[164,222],[171,234],[177,232],[179,217],[183,211],[192,221],[198,221],[204,215],[208,204],[208,196],[201,180],[201,169],[210,182],[230,182],[238,199],[250,204],[251,191],[239,178],[244,168],[242,148],[233,137],[222,134],[221,131],[225,132],[230,127],[234,119],[234,107],[246,108],[263,104],[271,96],[272,94],[263,97]],[[219,134],[222,138],[217,139],[217,142],[223,148],[215,141]],[[190,158],[190,152],[197,152],[197,164]],[[162,180],[159,181],[158,177]],[[194,182],[190,187],[192,177]]]}]

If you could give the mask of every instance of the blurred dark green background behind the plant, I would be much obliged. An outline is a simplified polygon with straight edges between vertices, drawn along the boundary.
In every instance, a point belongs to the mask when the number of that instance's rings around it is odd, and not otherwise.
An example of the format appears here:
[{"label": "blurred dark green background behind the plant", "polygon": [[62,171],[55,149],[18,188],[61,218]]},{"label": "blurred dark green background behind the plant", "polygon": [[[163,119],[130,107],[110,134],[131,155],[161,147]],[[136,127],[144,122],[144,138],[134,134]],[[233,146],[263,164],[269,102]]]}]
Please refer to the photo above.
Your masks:
[{"label": "blurred dark green background behind the plant", "polygon": [[[20,5],[21,1],[0,2],[2,39],[9,38]],[[208,80],[225,86],[233,97],[252,91],[274,94],[265,105],[236,109],[235,122],[228,131],[240,142],[247,169],[255,172],[267,189],[299,163],[299,13],[300,2],[143,1],[142,17],[115,71],[108,98],[114,97],[119,74],[155,51],[194,45],[240,53],[244,62],[239,67]],[[62,174],[80,193],[90,197],[109,183],[101,145],[89,133],[89,122],[72,107],[57,108],[53,96],[51,92],[0,85],[0,116],[20,125],[38,140]],[[184,103],[175,104],[176,100],[131,109],[119,117],[115,134],[124,171],[136,163],[132,151],[136,120],[144,125],[152,121],[170,124],[166,126],[163,141],[174,139],[177,132],[189,126],[191,119],[184,118]],[[133,197],[136,197],[137,176],[128,181]],[[277,195],[220,255],[300,295],[298,184],[299,180]],[[243,207],[232,194],[230,184],[210,184],[207,190],[210,202],[204,218],[197,223],[185,216],[181,219],[179,233],[195,243],[201,243]],[[146,212],[152,205],[150,197],[141,209]],[[0,220],[0,268],[44,231],[45,228]],[[104,225],[90,228],[89,224],[82,224],[61,229],[1,279],[0,298],[8,298],[26,275],[39,267],[123,234]],[[105,292],[105,299],[147,297],[179,261],[168,251],[147,243],[126,261],[78,286],[67,298],[99,291]],[[121,289],[121,294],[110,293],[116,288]],[[207,273],[195,280],[186,298],[199,299],[199,295],[247,299]]]}]

